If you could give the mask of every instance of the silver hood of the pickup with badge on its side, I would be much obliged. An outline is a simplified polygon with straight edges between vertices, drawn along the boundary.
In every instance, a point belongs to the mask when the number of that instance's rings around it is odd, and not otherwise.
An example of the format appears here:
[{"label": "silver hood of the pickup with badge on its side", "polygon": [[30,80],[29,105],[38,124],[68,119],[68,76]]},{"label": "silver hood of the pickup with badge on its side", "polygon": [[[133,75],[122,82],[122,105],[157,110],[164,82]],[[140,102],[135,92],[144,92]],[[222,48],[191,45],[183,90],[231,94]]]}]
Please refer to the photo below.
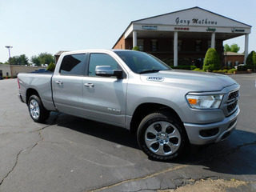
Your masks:
[{"label": "silver hood of the pickup with badge on its side", "polygon": [[174,86],[192,91],[218,91],[237,84],[223,74],[204,73],[190,70],[161,70],[158,73],[141,74],[142,82]]}]

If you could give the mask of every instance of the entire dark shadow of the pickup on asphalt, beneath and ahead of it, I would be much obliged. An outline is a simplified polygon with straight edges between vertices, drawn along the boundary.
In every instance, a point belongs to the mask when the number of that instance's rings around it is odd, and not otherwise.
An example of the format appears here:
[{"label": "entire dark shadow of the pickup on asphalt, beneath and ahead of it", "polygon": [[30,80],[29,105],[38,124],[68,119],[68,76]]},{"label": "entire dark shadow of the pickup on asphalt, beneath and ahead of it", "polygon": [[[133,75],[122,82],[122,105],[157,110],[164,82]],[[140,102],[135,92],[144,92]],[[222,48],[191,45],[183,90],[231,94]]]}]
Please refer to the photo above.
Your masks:
[{"label": "entire dark shadow of the pickup on asphalt, beneath and ahead of it", "polygon": [[[82,134],[88,134],[95,138],[139,150],[136,135],[131,134],[129,130],[67,114],[59,114],[54,119],[54,115],[51,115],[47,124],[55,124],[56,126],[62,126]],[[145,155],[139,158],[145,158]],[[256,174],[255,159],[256,134],[244,130],[234,130],[234,133],[226,141],[208,146],[191,146],[191,149],[188,150],[184,157],[166,163],[200,166],[202,168],[199,169],[211,172],[242,175]]]}]

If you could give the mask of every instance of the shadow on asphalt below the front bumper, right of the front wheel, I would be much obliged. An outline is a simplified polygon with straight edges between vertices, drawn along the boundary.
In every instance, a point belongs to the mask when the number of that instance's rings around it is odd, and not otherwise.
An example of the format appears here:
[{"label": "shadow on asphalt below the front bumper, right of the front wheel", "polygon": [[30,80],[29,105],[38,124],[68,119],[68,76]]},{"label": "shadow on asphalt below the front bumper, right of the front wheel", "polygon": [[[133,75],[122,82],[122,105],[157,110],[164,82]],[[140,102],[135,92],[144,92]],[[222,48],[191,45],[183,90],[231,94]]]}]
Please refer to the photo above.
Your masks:
[{"label": "shadow on asphalt below the front bumper, right of the front wheel", "polygon": [[221,174],[256,174],[256,134],[234,130],[230,138],[208,146],[191,146],[190,154],[175,163],[202,166]]}]

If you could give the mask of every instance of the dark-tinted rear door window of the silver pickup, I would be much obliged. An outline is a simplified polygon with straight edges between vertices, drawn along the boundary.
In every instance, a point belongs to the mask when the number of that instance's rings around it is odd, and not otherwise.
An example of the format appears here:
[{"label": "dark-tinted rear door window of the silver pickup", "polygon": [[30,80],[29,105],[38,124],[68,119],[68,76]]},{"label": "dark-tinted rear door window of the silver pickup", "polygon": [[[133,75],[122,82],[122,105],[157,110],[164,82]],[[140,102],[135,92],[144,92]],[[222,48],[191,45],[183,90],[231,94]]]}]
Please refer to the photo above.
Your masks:
[{"label": "dark-tinted rear door window of the silver pickup", "polygon": [[66,55],[62,60],[60,74],[65,75],[84,75],[85,74],[86,54]]}]

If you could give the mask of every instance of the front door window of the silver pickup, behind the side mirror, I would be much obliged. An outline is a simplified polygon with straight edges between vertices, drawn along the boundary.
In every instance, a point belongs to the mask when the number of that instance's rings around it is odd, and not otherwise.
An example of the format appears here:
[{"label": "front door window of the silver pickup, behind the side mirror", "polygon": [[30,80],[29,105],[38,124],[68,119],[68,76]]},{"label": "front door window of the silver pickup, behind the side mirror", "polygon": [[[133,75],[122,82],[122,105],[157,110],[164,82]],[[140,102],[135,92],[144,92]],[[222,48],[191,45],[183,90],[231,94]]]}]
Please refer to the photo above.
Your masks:
[{"label": "front door window of the silver pickup, behind the side mirror", "polygon": [[90,54],[89,76],[95,75],[96,66],[111,66],[112,70],[120,70],[118,62],[108,54]]}]

